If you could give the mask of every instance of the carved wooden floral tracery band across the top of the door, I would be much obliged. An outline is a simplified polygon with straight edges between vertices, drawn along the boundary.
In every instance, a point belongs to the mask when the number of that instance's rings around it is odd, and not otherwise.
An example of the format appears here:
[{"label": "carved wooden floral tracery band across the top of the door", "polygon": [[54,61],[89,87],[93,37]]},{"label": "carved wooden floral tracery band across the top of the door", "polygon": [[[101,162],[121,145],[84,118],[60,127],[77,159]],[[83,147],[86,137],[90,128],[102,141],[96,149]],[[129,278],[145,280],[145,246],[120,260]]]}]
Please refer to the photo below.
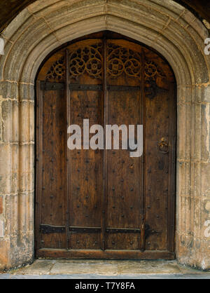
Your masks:
[{"label": "carved wooden floral tracery band across the top of the door", "polygon": [[[120,75],[134,77],[141,81],[144,75],[146,97],[153,100],[160,88],[157,81],[167,79],[165,71],[147,55],[147,51],[136,51],[134,48],[125,48],[120,44],[108,41],[106,44],[106,72],[107,77],[116,79]],[[144,65],[143,65],[144,64]],[[93,79],[102,79],[103,76],[103,42],[81,44],[74,50],[69,50],[69,78],[77,80],[79,76],[88,74]],[[66,74],[65,57],[59,57],[51,65],[45,81],[64,82]]]}]

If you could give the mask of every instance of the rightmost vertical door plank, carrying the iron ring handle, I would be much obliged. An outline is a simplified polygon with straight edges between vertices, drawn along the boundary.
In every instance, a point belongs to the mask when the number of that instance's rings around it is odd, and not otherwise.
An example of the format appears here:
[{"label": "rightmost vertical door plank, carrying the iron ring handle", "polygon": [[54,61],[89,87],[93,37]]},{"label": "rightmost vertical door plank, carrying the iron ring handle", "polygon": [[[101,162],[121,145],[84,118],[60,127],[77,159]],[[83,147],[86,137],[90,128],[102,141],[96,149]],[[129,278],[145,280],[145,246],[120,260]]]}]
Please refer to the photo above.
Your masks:
[{"label": "rightmost vertical door plank, carrying the iron ring handle", "polygon": [[146,250],[167,250],[169,91],[146,97]]}]

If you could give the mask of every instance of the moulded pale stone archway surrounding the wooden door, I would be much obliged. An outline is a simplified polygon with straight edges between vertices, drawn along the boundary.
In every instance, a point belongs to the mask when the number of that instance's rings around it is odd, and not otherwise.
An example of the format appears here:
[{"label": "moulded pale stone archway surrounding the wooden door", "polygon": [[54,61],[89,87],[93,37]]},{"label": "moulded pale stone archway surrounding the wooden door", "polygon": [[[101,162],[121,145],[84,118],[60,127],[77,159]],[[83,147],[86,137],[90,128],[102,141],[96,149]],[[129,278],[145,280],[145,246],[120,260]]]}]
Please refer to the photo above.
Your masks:
[{"label": "moulded pale stone archway surrounding the wooden door", "polygon": [[2,37],[0,58],[0,268],[34,259],[34,80],[58,46],[109,29],[158,50],[178,84],[176,254],[210,268],[208,31],[174,1],[45,0],[18,15]]}]

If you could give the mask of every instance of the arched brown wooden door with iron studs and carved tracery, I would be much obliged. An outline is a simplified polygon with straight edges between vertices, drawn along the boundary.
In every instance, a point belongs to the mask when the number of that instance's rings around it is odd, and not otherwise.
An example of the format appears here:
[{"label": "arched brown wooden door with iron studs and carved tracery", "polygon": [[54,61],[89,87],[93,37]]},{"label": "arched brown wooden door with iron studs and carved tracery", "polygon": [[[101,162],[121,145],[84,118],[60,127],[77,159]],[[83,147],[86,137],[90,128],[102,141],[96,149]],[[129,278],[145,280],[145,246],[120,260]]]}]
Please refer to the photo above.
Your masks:
[{"label": "arched brown wooden door with iron studs and carved tracery", "polygon": [[[37,79],[36,256],[174,259],[174,75],[116,34],[76,41]],[[67,127],[144,125],[144,154],[67,148]]]}]

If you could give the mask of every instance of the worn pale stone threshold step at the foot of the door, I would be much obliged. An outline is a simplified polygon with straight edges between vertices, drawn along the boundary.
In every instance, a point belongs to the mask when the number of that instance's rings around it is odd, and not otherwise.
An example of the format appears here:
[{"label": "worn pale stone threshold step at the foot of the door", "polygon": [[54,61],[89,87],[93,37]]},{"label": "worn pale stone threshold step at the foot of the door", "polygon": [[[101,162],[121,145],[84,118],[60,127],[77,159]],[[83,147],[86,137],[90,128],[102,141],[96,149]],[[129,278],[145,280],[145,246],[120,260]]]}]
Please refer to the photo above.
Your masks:
[{"label": "worn pale stone threshold step at the foot of the door", "polygon": [[34,264],[0,274],[0,279],[153,279],[153,278],[206,278],[210,272],[181,266],[176,261],[111,261],[36,259]]}]

